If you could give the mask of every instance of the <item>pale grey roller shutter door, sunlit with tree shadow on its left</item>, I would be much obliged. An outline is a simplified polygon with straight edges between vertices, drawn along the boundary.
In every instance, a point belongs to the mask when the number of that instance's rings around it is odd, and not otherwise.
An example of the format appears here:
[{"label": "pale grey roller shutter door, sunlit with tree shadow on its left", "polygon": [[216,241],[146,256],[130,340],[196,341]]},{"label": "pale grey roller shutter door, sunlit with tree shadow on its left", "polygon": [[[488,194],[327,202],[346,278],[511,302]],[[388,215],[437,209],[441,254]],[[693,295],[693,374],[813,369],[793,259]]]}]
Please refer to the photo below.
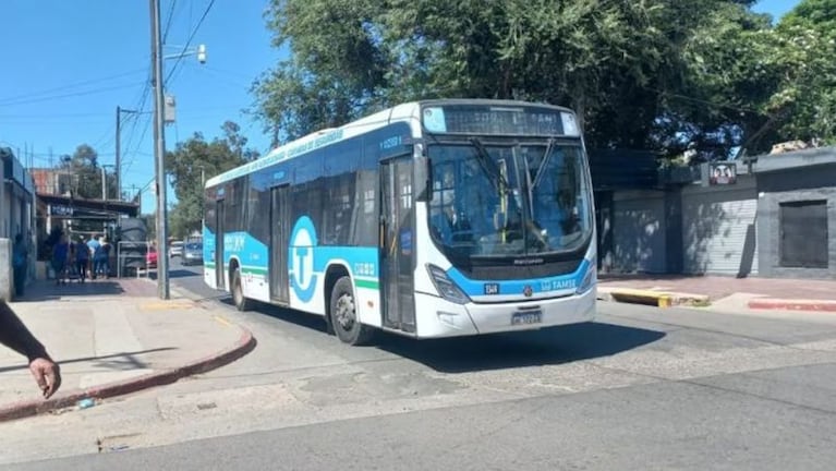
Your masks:
[{"label": "pale grey roller shutter door, sunlit with tree shadow on its left", "polygon": [[684,271],[756,274],[756,213],[753,188],[682,192]]}]

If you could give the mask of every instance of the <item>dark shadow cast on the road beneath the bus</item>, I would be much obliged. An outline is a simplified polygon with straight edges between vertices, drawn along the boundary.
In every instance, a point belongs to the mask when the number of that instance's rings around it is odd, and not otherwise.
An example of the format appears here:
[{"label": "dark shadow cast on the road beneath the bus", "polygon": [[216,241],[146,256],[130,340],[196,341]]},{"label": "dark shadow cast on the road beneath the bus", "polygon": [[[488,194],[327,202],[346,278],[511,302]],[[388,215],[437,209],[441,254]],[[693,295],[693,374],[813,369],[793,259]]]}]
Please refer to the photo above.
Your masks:
[{"label": "dark shadow cast on the road beneath the bus", "polygon": [[[227,298],[220,302],[231,305]],[[322,317],[272,305],[256,311],[325,335]],[[464,373],[570,363],[609,357],[652,343],[664,331],[607,323],[585,323],[540,330],[475,337],[415,340],[379,331],[368,347],[422,363],[443,373]],[[334,341],[338,341],[332,337]]]}]

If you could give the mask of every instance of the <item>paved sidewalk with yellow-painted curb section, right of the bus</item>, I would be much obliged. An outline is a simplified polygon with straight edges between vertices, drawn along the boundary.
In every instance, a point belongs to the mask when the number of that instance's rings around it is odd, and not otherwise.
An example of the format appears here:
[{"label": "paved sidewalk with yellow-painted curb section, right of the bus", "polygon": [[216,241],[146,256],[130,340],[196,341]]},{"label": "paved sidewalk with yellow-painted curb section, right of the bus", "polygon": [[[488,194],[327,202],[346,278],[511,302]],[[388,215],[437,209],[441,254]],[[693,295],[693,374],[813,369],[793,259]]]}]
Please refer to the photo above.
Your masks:
[{"label": "paved sidewalk with yellow-painted curb section, right of the bus", "polygon": [[603,275],[598,298],[659,307],[729,305],[749,310],[836,313],[836,280]]}]

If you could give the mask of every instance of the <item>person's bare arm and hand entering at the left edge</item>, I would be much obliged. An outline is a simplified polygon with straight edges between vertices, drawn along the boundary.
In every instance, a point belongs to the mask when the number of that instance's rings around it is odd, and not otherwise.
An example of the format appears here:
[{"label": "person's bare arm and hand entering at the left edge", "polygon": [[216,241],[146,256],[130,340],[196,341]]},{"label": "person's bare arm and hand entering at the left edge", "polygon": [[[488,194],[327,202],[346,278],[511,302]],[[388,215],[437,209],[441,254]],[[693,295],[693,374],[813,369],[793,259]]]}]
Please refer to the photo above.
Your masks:
[{"label": "person's bare arm and hand entering at the left edge", "polygon": [[45,399],[61,387],[61,369],[5,301],[0,301],[0,343],[28,359],[29,372]]}]

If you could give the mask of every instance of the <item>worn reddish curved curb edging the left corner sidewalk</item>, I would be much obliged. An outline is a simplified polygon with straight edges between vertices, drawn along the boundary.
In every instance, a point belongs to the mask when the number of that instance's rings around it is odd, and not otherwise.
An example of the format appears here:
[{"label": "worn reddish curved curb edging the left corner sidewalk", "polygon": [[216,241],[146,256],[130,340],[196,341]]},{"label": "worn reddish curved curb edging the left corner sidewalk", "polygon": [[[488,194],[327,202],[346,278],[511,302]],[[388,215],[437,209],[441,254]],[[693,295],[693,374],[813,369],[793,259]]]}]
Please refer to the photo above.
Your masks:
[{"label": "worn reddish curved curb edging the left corner sidewalk", "polygon": [[239,340],[231,348],[218,353],[210,354],[174,369],[161,370],[135,378],[93,386],[87,389],[72,390],[47,400],[35,399],[14,402],[10,406],[2,406],[0,407],[0,422],[23,419],[50,412],[56,409],[68,408],[74,406],[82,399],[105,399],[114,396],[123,396],[155,386],[175,383],[186,376],[216,370],[244,357],[255,348],[257,342],[255,337],[253,337],[253,334],[241,326],[238,327],[242,330]]}]

